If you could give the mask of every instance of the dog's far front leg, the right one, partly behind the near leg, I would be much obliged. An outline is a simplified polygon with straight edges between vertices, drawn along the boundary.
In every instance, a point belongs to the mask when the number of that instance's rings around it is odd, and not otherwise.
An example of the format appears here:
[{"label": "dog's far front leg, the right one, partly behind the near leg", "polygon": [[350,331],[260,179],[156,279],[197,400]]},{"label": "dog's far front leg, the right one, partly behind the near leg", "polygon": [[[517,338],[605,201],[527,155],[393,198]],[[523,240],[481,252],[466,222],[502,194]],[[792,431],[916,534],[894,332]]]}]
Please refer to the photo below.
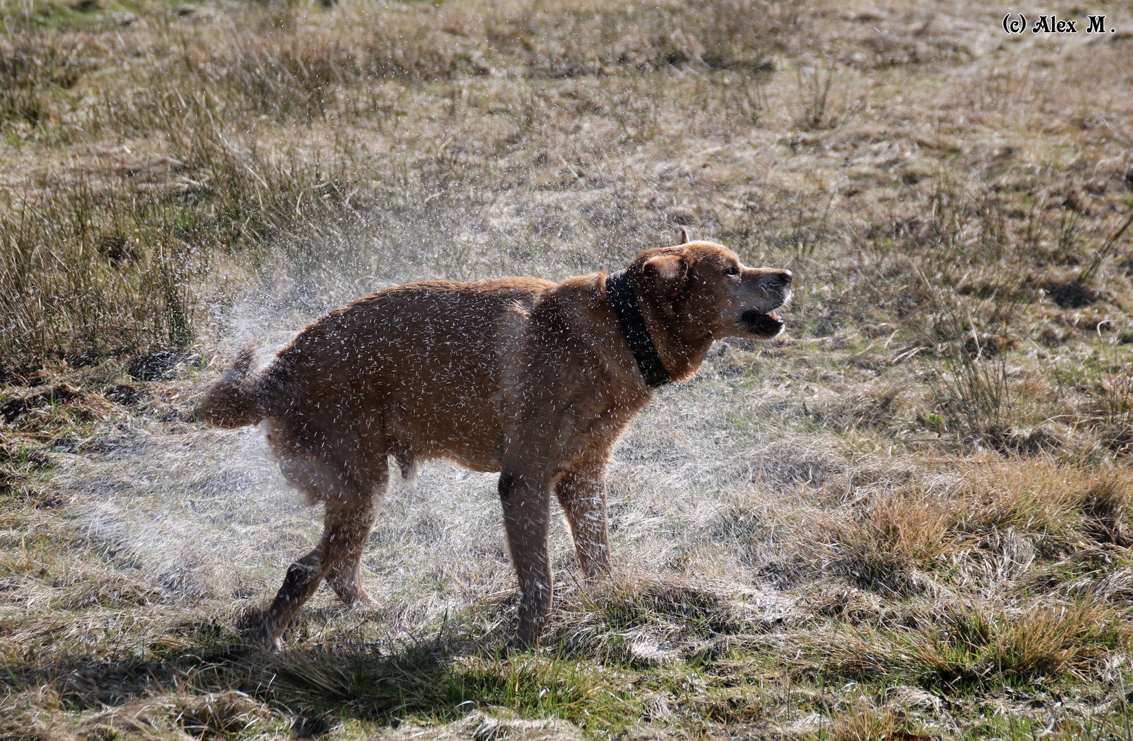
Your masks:
[{"label": "dog's far front leg, the right one, partly behind the near leg", "polygon": [[568,471],[555,484],[587,579],[605,576],[611,568],[605,473],[605,460],[588,460]]}]

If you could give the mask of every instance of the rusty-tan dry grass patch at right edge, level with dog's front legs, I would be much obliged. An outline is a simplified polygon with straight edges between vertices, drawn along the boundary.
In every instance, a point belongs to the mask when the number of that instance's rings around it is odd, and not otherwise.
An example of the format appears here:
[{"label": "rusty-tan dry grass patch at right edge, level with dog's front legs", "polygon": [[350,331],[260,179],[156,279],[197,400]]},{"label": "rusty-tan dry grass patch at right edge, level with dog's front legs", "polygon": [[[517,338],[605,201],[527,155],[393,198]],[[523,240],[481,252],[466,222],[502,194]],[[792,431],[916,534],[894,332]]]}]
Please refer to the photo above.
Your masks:
[{"label": "rusty-tan dry grass patch at right edge, level with dog's front legs", "polygon": [[1048,459],[990,462],[964,480],[867,490],[803,518],[803,562],[888,596],[1002,585],[1036,561],[1127,537],[1126,476]]}]

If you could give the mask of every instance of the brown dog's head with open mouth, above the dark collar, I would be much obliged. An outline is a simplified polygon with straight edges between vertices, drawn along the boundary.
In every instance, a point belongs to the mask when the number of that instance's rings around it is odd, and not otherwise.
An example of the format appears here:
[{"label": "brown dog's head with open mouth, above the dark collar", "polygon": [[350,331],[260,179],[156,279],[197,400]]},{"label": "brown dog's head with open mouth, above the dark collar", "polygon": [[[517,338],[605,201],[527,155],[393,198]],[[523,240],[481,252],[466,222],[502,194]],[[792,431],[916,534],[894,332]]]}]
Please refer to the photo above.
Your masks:
[{"label": "brown dog's head with open mouth, above the dark collar", "polygon": [[636,287],[674,329],[691,338],[758,337],[783,331],[775,309],[791,298],[791,272],[749,268],[714,242],[641,252]]}]

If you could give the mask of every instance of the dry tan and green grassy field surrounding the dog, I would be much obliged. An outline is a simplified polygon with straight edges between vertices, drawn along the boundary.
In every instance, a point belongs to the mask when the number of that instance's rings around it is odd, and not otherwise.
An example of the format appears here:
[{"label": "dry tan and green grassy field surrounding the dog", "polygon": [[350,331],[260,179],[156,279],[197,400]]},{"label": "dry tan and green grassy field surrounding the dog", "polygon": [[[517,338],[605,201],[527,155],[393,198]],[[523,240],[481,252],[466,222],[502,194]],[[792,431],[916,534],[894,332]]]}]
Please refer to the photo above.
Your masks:
[{"label": "dry tan and green grassy field surrounding the dog", "polygon": [[[1133,734],[1127,3],[0,19],[0,739]],[[681,225],[795,299],[619,445],[613,579],[559,525],[546,640],[505,654],[494,477],[434,464],[370,540],[381,606],[247,640],[320,512],[194,419],[235,347]]]}]

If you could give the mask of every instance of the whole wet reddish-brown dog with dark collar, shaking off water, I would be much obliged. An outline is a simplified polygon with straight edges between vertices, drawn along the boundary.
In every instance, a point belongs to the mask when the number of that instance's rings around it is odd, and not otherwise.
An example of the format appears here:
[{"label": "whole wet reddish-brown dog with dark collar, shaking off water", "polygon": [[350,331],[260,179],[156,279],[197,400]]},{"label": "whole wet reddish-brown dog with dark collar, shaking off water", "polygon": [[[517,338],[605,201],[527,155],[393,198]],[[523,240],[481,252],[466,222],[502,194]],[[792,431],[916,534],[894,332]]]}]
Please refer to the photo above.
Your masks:
[{"label": "whole wet reddish-brown dog with dark collar, shaking off water", "polygon": [[606,463],[650,386],[691,378],[714,339],[774,337],[790,294],[790,272],[685,242],[613,276],[398,286],[320,318],[266,368],[245,351],[202,417],[262,423],[283,475],[325,505],[322,540],[288,569],[261,638],[279,646],[324,578],[348,604],[370,601],[359,565],[392,456],[407,477],[438,457],[501,472],[517,643],[534,644],[551,609],[551,492],[586,576],[607,572]]}]

